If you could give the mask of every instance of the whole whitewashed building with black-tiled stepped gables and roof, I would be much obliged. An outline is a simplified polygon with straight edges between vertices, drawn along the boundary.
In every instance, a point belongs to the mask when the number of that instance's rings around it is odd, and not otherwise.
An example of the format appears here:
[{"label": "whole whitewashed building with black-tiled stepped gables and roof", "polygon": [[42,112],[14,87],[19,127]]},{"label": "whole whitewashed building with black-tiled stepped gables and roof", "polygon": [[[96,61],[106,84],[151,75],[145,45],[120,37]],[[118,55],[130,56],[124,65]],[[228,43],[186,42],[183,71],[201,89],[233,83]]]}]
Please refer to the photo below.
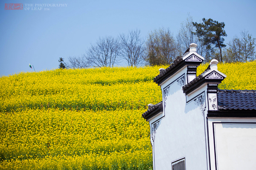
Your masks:
[{"label": "whole whitewashed building with black-tiled stepped gables and roof", "polygon": [[256,169],[256,91],[220,90],[217,60],[196,77],[204,58],[192,43],[154,81],[163,101],[149,104],[154,170]]}]

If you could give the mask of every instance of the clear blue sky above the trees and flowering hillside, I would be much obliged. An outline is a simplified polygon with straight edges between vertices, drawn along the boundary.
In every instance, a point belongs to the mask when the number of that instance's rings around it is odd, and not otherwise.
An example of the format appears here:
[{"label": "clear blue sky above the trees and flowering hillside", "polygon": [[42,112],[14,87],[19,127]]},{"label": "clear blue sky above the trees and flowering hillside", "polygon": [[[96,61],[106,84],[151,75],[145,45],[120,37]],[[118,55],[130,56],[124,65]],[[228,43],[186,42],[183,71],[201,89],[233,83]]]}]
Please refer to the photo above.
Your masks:
[{"label": "clear blue sky above the trees and flowering hillside", "polygon": [[[5,3],[23,3],[23,10],[4,10]],[[67,6],[32,10],[36,4]],[[176,36],[188,13],[195,22],[224,22],[226,44],[243,29],[256,37],[255,7],[255,0],[1,0],[0,76],[34,71],[29,63],[36,71],[56,69],[60,57],[82,55],[107,35],[140,29],[146,37],[169,27]]]}]

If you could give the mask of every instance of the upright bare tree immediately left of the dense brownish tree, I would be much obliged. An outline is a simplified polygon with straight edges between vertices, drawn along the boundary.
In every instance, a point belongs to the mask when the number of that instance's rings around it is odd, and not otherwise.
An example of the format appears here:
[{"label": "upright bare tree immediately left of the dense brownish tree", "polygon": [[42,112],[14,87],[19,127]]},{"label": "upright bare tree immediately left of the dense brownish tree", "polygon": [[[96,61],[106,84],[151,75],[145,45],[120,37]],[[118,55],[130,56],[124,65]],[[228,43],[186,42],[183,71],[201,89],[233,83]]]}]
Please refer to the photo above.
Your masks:
[{"label": "upright bare tree immediately left of the dense brownish tree", "polygon": [[128,66],[140,66],[144,62],[143,46],[145,40],[140,36],[140,30],[130,31],[128,35],[119,35],[120,57],[128,62]]}]

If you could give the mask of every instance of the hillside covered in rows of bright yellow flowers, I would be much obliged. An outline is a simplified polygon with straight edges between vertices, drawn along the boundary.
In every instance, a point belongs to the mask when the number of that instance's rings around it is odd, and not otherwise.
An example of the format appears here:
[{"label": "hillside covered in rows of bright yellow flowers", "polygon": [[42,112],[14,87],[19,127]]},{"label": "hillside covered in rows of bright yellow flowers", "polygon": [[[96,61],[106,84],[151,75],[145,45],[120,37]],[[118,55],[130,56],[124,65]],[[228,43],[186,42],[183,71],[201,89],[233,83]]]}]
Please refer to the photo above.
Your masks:
[{"label": "hillside covered in rows of bright yellow flowers", "polygon": [[[207,68],[198,67],[198,74]],[[154,67],[54,69],[0,78],[0,169],[151,170],[141,114],[162,100]],[[220,89],[256,89],[256,61],[220,63]]]}]

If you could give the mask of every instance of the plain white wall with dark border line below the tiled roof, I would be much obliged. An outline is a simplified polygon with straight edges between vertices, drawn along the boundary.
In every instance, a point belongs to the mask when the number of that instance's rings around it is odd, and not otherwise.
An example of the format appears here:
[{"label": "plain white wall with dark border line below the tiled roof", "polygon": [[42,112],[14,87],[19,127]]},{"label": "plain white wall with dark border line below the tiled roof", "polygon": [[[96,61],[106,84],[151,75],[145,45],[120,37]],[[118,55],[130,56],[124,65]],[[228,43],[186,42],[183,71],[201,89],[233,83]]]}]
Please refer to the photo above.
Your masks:
[{"label": "plain white wall with dark border line below the tiled roof", "polygon": [[208,121],[212,169],[256,169],[256,119],[209,118]]}]

